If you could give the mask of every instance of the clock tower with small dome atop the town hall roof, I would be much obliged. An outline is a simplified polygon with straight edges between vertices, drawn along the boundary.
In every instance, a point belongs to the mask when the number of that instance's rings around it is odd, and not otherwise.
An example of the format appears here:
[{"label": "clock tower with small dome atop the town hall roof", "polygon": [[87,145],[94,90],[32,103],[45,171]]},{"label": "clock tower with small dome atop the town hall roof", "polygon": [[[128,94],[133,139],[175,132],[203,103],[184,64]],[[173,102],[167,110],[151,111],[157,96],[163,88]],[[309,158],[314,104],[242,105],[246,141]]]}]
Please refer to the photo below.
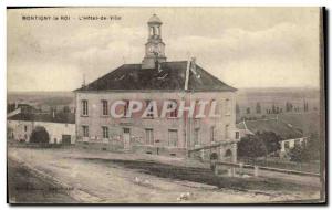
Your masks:
[{"label": "clock tower with small dome atop the town hall roof", "polygon": [[154,69],[157,62],[162,63],[166,61],[165,43],[162,40],[162,24],[163,22],[156,14],[153,14],[147,22],[148,39],[145,44],[145,56],[142,62],[142,69]]}]

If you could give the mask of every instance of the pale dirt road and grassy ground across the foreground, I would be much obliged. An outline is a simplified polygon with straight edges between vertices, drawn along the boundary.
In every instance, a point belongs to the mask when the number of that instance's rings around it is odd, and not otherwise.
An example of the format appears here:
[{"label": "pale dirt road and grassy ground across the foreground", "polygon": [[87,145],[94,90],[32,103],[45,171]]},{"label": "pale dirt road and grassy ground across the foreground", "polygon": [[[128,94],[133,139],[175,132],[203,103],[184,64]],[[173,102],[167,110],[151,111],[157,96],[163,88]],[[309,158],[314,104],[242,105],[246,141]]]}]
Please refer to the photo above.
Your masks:
[{"label": "pale dirt road and grassy ground across the foreground", "polygon": [[9,147],[8,158],[10,202],[239,203],[320,198],[313,178],[219,177],[207,165],[176,157]]}]

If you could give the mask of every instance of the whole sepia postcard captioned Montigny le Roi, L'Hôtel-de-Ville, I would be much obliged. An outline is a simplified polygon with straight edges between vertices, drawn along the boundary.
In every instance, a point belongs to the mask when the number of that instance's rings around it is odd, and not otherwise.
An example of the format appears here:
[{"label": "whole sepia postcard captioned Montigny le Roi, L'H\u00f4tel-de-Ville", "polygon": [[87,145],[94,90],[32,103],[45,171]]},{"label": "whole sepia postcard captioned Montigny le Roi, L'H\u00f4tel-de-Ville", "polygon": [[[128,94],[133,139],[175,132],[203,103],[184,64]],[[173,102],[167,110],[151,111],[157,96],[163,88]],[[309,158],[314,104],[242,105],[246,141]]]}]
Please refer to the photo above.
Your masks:
[{"label": "whole sepia postcard captioned Montigny le Roi, L'H\u00f4tel-de-Ville", "polygon": [[9,203],[325,203],[323,8],[7,8]]}]

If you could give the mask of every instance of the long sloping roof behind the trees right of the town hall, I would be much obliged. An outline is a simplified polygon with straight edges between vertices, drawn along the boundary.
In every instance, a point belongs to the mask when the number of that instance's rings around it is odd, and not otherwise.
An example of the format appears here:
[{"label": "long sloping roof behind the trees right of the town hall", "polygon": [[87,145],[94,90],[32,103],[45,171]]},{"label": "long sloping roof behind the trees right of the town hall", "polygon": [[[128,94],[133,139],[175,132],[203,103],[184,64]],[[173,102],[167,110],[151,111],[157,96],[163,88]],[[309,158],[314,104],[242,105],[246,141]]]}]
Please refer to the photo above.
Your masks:
[{"label": "long sloping roof behind the trees right of the town hall", "polygon": [[303,137],[303,134],[300,130],[294,129],[279,119],[246,120],[246,125],[243,125],[243,122],[237,124],[238,129],[245,129],[245,127],[253,134],[257,132],[273,132],[282,139]]}]

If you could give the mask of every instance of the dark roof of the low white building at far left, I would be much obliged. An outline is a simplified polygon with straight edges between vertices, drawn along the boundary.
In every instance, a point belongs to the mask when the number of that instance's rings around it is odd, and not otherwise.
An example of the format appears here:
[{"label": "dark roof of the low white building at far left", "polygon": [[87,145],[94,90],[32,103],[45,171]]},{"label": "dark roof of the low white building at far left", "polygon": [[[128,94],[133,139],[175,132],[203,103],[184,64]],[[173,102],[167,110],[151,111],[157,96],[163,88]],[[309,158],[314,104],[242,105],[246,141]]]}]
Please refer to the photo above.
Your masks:
[{"label": "dark roof of the low white building at far left", "polygon": [[51,113],[19,113],[11,117],[9,120],[24,120],[24,122],[49,122],[49,123],[64,123],[74,124],[75,114],[73,113],[55,113],[54,117]]}]

